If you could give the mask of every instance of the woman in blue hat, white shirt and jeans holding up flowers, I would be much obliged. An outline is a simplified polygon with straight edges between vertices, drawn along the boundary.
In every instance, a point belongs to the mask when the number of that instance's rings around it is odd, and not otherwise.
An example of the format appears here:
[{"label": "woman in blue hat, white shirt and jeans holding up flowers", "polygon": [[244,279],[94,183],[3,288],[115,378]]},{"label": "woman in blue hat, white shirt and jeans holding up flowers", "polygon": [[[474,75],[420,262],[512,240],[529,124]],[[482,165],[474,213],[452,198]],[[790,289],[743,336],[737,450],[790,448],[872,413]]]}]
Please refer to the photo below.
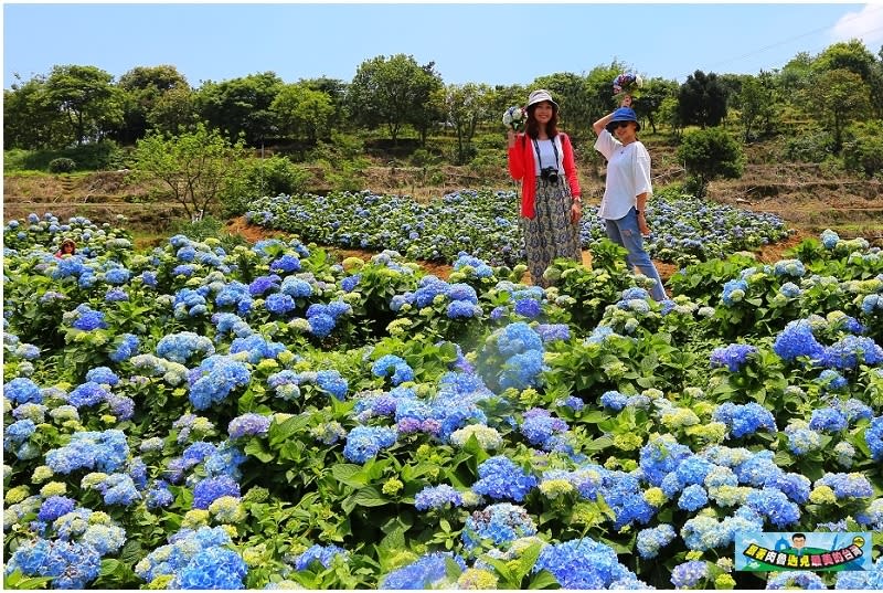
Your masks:
[{"label": "woman in blue hat, white shirt and jeans holding up flowers", "polygon": [[647,199],[653,192],[650,153],[637,137],[641,126],[631,108],[631,95],[625,95],[620,105],[592,125],[598,137],[595,149],[607,159],[607,180],[598,215],[604,219],[610,241],[628,250],[629,265],[656,280],[650,292],[653,299],[664,300],[662,278],[642,240],[650,234],[645,214]]}]

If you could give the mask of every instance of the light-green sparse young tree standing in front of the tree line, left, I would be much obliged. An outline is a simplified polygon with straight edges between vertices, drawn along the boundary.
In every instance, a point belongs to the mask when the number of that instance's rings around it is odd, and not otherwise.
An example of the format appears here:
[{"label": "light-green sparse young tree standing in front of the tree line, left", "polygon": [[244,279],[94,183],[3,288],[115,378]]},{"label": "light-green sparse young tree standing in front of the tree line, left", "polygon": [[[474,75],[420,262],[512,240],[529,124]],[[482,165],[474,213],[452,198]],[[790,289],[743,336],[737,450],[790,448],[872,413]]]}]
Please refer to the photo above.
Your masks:
[{"label": "light-green sparse young tree standing in front of the tree line, left", "polygon": [[215,129],[199,124],[180,136],[151,133],[138,140],[134,181],[159,186],[153,198],[170,198],[184,207],[188,218],[201,218],[217,205],[246,158],[242,141],[232,144]]}]

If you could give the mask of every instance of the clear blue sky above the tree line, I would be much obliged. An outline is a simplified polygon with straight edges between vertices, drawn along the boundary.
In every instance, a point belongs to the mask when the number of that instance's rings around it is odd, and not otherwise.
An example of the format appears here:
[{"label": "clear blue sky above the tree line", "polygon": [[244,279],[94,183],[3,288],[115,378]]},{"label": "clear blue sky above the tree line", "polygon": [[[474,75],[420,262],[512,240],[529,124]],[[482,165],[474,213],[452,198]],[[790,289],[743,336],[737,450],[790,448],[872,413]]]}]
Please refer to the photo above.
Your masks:
[{"label": "clear blue sky above the tree line", "polygon": [[172,64],[193,86],[257,72],[350,82],[405,53],[445,83],[528,84],[613,60],[683,82],[695,70],[757,74],[859,38],[883,45],[883,3],[6,3],[3,87],[53,65],[114,76]]}]

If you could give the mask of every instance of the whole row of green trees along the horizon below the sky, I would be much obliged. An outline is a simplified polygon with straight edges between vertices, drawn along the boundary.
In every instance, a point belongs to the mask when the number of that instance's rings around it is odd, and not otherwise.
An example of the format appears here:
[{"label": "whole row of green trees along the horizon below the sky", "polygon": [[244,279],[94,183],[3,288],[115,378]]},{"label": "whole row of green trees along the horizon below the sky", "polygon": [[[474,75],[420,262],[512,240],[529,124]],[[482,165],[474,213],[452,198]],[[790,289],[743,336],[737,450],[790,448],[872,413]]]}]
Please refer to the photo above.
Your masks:
[{"label": "whole row of green trees along the horizon below the sky", "polygon": [[[506,107],[523,103],[531,88],[549,88],[561,105],[563,129],[586,137],[592,121],[616,106],[611,81],[625,70],[614,61],[528,85],[446,84],[434,62],[396,54],[365,60],[350,82],[286,83],[264,72],[194,88],[173,65],[137,66],[119,80],[96,66],[56,65],[28,81],[17,75],[4,89],[3,144],[29,150],[104,140],[134,146],[149,135],[177,136],[204,125],[253,148],[315,146],[334,131],[376,129],[393,144],[407,129],[424,146],[427,136],[446,130],[456,139],[455,160],[467,162],[477,130],[499,126]],[[680,137],[689,126],[725,125],[753,141],[799,128],[818,133],[817,144],[838,153],[851,125],[877,129],[883,120],[883,47],[874,55],[859,40],[834,43],[757,75],[695,71],[682,84],[645,76],[634,107],[653,133],[664,127]]]}]

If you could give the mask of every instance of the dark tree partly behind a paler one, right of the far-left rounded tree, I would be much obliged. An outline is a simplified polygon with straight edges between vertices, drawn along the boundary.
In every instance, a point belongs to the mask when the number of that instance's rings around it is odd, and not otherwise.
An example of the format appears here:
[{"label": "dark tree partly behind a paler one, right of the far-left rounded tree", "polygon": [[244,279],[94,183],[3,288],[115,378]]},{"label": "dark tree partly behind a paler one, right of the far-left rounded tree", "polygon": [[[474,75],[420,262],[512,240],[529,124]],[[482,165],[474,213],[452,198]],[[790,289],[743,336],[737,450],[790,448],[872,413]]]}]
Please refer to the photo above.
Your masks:
[{"label": "dark tree partly behind a paler one, right of the far-left rounded tree", "polygon": [[172,65],[138,66],[119,77],[124,91],[124,115],[117,139],[134,142],[147,134],[150,113],[166,93],[190,91],[187,78]]}]

